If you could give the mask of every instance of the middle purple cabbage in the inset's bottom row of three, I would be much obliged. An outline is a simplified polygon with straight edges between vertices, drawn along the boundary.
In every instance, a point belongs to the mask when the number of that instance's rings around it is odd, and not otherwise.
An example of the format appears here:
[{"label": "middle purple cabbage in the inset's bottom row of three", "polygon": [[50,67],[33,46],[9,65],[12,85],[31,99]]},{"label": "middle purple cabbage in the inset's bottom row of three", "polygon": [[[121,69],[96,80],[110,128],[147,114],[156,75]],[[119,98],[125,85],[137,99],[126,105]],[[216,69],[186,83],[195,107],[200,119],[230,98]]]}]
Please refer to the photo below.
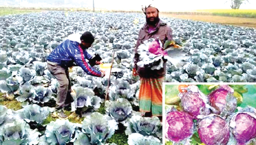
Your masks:
[{"label": "middle purple cabbage in the inset's bottom row of three", "polygon": [[198,124],[198,135],[206,145],[226,145],[230,138],[227,122],[220,116],[210,114]]}]

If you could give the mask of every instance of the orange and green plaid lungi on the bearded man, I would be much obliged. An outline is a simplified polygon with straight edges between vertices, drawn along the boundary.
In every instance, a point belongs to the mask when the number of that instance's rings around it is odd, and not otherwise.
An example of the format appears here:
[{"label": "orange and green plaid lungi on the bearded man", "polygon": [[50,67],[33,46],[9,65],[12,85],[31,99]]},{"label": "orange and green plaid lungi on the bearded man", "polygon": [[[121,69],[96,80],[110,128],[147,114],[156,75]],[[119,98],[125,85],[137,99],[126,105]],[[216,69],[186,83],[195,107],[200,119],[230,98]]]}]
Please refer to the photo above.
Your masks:
[{"label": "orange and green plaid lungi on the bearded man", "polygon": [[163,85],[162,78],[140,78],[139,103],[141,112],[152,112],[153,116],[162,116]]}]

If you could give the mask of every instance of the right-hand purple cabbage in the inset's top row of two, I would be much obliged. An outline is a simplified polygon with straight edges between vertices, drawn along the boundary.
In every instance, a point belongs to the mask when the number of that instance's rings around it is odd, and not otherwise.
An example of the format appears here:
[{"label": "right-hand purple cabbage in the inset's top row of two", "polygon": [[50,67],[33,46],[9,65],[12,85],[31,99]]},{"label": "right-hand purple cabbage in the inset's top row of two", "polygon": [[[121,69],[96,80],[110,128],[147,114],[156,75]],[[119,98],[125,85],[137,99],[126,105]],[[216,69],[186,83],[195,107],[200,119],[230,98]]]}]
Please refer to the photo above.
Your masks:
[{"label": "right-hand purple cabbage in the inset's top row of two", "polygon": [[236,98],[234,97],[234,90],[228,85],[221,85],[208,95],[209,103],[213,107],[212,112],[221,114],[222,112],[228,115],[236,110]]}]

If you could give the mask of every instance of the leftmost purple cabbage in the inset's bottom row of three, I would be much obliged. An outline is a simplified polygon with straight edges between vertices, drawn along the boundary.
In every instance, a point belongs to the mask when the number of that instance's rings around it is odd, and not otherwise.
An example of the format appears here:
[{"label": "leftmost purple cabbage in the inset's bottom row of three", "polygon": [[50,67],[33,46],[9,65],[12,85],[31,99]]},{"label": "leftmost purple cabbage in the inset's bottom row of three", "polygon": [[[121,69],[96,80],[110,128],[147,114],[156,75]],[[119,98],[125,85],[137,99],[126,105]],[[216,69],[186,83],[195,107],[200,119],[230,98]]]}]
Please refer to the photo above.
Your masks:
[{"label": "leftmost purple cabbage in the inset's bottom row of three", "polygon": [[182,111],[172,111],[166,115],[166,138],[172,142],[189,139],[193,135],[194,124],[192,116]]}]

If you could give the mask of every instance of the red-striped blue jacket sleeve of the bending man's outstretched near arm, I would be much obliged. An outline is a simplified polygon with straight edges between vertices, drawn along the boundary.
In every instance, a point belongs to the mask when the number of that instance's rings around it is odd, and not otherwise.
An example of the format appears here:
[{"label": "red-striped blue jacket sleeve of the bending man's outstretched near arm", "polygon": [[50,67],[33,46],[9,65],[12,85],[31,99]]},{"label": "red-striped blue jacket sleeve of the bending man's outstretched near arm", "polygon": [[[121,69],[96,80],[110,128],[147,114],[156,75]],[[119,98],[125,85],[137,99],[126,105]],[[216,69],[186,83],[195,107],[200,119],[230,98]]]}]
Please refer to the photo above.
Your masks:
[{"label": "red-striped blue jacket sleeve of the bending man's outstretched near arm", "polygon": [[85,61],[84,59],[84,52],[80,48],[80,53],[76,52],[74,57],[75,63],[81,67],[85,73],[88,75],[96,76],[96,77],[103,77],[103,73],[94,69],[93,67],[90,67],[90,65]]}]

